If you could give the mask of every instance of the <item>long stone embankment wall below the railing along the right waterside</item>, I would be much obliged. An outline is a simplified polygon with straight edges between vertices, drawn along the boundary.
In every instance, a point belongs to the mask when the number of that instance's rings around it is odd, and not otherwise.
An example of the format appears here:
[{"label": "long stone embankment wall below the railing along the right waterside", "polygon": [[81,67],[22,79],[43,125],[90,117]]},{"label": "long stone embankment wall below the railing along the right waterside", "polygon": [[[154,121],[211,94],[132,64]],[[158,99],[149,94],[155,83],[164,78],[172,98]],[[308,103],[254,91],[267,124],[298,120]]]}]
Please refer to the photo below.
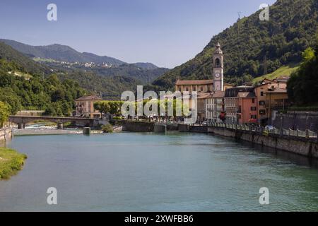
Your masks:
[{"label": "long stone embankment wall below the railing along the right waterside", "polygon": [[276,134],[264,136],[263,134],[255,133],[254,131],[235,131],[235,129],[222,127],[208,127],[208,133],[232,137],[235,138],[236,141],[249,141],[270,148],[318,158],[318,143],[314,141],[314,139],[295,136],[279,136]]}]

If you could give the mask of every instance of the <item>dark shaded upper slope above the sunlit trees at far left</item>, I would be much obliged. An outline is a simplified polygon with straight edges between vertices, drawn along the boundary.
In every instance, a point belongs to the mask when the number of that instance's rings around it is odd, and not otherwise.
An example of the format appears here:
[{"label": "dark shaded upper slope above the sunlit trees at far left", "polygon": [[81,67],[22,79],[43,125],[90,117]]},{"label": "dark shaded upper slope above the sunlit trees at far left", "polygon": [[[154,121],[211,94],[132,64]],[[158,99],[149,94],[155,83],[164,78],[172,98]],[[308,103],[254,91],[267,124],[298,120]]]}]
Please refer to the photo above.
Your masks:
[{"label": "dark shaded upper slope above the sunlit trees at far left", "polygon": [[24,54],[16,51],[12,47],[4,44],[0,41],[0,59],[5,59],[6,61],[13,62],[16,70],[24,73],[32,74],[49,74],[51,71],[49,67],[41,64],[37,64],[35,61],[26,57]]}]

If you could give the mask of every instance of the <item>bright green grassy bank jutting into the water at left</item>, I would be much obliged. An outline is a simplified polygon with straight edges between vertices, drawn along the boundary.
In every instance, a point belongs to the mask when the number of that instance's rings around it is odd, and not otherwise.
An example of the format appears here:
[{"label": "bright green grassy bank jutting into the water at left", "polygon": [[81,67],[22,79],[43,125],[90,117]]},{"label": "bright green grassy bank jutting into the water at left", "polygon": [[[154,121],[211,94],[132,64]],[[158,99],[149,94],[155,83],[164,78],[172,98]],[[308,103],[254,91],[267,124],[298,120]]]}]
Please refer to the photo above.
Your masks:
[{"label": "bright green grassy bank jutting into the water at left", "polygon": [[8,179],[22,169],[27,155],[9,148],[0,148],[0,179]]}]

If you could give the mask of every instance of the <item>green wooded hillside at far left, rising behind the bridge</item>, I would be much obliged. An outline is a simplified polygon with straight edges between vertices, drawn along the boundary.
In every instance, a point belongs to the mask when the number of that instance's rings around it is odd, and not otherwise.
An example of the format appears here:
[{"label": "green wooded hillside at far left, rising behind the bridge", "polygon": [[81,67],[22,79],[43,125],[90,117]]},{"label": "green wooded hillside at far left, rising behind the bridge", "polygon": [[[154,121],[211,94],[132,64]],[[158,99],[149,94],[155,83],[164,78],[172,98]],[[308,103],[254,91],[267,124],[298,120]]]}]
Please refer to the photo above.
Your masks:
[{"label": "green wooded hillside at far left, rising behind the bridge", "polygon": [[74,100],[86,94],[76,81],[63,82],[45,66],[0,43],[0,101],[11,114],[20,109],[42,109],[50,115],[69,115]]}]

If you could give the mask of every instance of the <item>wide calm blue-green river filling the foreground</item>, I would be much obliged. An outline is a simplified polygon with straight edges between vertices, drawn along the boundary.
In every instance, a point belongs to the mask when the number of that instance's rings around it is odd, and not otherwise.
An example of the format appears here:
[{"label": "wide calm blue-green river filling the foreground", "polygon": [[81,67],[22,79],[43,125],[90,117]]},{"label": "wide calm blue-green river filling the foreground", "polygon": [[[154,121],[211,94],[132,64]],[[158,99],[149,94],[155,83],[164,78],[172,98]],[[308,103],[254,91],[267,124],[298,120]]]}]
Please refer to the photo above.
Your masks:
[{"label": "wide calm blue-green river filling the foreground", "polygon": [[[0,211],[318,210],[317,161],[199,133],[15,136]],[[57,189],[57,205],[47,189]],[[269,189],[260,205],[259,189]]]}]

